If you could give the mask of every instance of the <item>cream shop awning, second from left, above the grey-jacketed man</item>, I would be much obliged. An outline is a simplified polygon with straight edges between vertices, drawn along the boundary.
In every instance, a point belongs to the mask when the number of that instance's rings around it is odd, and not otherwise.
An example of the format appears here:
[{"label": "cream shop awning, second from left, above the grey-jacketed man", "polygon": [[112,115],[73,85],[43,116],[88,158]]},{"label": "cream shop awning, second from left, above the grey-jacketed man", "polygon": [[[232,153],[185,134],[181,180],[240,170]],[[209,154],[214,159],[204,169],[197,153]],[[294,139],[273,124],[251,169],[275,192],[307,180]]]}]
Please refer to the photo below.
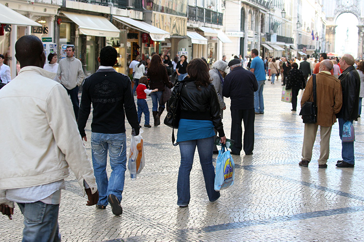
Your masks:
[{"label": "cream shop awning, second from left, above the grey-jacketed man", "polygon": [[120,30],[106,17],[62,12],[78,25],[80,34],[102,37],[119,37]]}]

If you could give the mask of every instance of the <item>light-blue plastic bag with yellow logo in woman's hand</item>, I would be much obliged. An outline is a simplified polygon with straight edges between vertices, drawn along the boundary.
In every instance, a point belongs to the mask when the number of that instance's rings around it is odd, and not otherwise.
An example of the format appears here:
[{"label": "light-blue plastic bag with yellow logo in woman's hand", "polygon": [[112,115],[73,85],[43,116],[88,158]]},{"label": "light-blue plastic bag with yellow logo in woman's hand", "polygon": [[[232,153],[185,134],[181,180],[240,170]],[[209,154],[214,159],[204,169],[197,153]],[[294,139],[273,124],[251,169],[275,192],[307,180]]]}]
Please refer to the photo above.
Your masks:
[{"label": "light-blue plastic bag with yellow logo in woman's hand", "polygon": [[[225,151],[226,149],[226,151]],[[214,189],[216,191],[227,189],[234,184],[235,164],[230,151],[226,145],[221,147],[218,151],[218,158],[216,159],[216,175]]]}]

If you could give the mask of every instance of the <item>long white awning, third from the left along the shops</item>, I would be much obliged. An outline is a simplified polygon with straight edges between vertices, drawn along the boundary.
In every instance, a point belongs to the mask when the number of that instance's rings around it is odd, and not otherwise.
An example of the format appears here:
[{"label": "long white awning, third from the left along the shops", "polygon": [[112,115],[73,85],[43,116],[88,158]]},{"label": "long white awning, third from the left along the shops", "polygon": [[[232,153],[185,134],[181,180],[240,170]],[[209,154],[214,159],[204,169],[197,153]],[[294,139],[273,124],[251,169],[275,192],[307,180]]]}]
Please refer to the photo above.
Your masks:
[{"label": "long white awning, third from the left along the shops", "polygon": [[164,41],[166,38],[170,37],[169,32],[157,28],[153,25],[147,24],[146,22],[138,21],[130,17],[121,17],[115,15],[113,16],[113,18],[129,26],[130,28],[148,33],[153,41]]}]

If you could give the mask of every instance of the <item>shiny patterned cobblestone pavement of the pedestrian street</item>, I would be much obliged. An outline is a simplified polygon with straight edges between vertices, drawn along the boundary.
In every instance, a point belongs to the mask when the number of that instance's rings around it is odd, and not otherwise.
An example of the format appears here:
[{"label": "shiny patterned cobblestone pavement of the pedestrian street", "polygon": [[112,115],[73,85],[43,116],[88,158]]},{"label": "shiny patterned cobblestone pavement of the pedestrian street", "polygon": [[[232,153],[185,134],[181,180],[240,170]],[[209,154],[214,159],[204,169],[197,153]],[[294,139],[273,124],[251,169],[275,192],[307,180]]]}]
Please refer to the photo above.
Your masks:
[{"label": "shiny patterned cobblestone pavement of the pedestrian street", "polygon": [[[355,168],[335,167],[341,159],[338,123],[331,133],[328,168],[318,169],[319,135],[309,167],[299,167],[304,124],[298,112],[291,112],[291,104],[280,101],[280,84],[266,82],[265,114],[255,116],[254,155],[233,156],[235,184],[221,191],[217,202],[208,201],[196,153],[190,205],[177,206],[180,153],[171,143],[172,130],[163,124],[145,128],[146,167],[136,181],[126,173],[122,216],[114,216],[109,206],[105,210],[87,207],[75,177],[70,175],[59,211],[62,241],[363,241],[363,120],[354,122]],[[299,100],[301,96],[302,91]],[[147,101],[151,110],[150,97]],[[230,100],[225,101],[223,122],[229,138]],[[91,118],[88,137],[90,124]],[[127,126],[128,144],[130,133]],[[91,157],[90,141],[86,147]],[[12,221],[1,216],[0,242],[21,241],[22,223],[18,207]]]}]

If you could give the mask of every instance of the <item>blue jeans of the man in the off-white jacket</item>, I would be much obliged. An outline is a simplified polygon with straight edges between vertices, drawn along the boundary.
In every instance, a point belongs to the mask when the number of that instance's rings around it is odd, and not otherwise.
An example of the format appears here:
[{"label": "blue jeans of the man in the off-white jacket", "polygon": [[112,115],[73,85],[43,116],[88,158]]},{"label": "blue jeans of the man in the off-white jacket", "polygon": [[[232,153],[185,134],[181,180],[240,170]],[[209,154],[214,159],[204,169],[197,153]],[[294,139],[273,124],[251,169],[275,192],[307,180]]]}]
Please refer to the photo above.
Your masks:
[{"label": "blue jeans of the man in the off-white jacket", "polygon": [[24,216],[23,242],[60,242],[59,204],[18,203]]}]

